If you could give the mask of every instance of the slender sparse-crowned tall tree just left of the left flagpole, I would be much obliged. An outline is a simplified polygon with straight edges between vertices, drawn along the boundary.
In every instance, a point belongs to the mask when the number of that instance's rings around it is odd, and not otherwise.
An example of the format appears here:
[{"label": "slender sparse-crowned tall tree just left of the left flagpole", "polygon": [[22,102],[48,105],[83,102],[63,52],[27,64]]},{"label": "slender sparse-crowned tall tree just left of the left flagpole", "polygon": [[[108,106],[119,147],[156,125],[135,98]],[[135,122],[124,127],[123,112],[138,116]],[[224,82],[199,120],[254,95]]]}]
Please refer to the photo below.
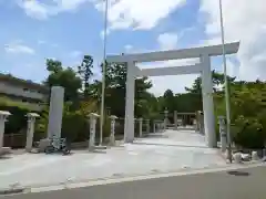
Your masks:
[{"label": "slender sparse-crowned tall tree just left of the left flagpole", "polygon": [[90,78],[93,75],[93,57],[91,55],[84,55],[81,65],[78,66],[79,74],[83,82],[83,94],[88,98],[90,95]]}]

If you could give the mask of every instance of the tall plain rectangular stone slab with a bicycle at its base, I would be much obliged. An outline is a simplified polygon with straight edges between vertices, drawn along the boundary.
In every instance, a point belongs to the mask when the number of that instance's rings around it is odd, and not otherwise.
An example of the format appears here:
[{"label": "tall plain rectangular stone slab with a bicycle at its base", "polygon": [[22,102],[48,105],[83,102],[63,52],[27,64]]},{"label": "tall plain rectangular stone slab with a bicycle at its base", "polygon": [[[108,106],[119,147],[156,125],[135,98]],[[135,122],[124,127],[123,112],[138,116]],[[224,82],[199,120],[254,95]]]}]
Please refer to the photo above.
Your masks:
[{"label": "tall plain rectangular stone slab with a bicycle at its base", "polygon": [[63,104],[64,88],[61,86],[53,86],[50,97],[48,138],[61,138]]}]

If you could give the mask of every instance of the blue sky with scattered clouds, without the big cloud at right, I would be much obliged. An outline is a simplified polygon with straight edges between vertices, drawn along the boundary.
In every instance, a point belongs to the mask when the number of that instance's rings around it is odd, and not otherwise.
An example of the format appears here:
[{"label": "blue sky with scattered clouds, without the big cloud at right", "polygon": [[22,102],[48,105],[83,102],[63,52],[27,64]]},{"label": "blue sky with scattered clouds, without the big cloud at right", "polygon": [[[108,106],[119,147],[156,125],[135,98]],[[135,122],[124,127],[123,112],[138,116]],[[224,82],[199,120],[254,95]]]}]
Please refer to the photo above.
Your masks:
[{"label": "blue sky with scattered clouds, without the big cloud at right", "polygon": [[[216,33],[208,31],[215,27],[217,4],[208,4],[207,0],[145,2],[147,4],[141,0],[110,0],[108,54],[221,42],[217,30]],[[93,55],[96,67],[103,54],[102,9],[100,0],[0,0],[0,72],[41,82],[47,76],[47,57],[75,66],[83,54]],[[229,25],[227,21],[225,25]],[[227,38],[235,40],[229,27]],[[231,59],[231,74],[238,71],[239,60]],[[213,60],[213,69],[222,70],[221,59]],[[95,73],[99,77],[98,71]],[[153,77],[152,92],[160,95],[167,87],[183,92],[195,77]]]}]

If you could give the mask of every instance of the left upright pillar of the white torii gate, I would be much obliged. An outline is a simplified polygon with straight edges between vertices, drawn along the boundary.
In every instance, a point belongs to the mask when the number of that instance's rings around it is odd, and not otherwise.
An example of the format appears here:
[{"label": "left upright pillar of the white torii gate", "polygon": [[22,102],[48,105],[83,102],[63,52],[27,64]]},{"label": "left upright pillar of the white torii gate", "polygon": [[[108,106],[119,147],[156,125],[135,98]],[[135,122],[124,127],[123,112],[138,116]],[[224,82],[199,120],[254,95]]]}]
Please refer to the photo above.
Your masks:
[{"label": "left upright pillar of the white torii gate", "polygon": [[134,96],[135,96],[135,63],[127,62],[126,72],[126,92],[125,92],[125,124],[124,142],[133,143],[134,140]]}]

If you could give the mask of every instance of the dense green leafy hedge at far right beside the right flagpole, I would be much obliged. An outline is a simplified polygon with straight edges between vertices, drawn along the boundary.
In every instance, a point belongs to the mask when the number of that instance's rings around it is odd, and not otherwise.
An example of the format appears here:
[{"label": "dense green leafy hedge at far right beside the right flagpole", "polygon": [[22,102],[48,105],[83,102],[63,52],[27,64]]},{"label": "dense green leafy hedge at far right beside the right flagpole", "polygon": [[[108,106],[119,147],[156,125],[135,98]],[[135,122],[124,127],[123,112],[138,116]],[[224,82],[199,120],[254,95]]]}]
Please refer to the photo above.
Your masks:
[{"label": "dense green leafy hedge at far right beside the right flagpole", "polygon": [[[225,115],[222,93],[215,95],[216,116]],[[242,148],[264,148],[266,144],[266,84],[263,82],[231,85],[232,139]],[[216,126],[216,129],[218,127]]]}]

